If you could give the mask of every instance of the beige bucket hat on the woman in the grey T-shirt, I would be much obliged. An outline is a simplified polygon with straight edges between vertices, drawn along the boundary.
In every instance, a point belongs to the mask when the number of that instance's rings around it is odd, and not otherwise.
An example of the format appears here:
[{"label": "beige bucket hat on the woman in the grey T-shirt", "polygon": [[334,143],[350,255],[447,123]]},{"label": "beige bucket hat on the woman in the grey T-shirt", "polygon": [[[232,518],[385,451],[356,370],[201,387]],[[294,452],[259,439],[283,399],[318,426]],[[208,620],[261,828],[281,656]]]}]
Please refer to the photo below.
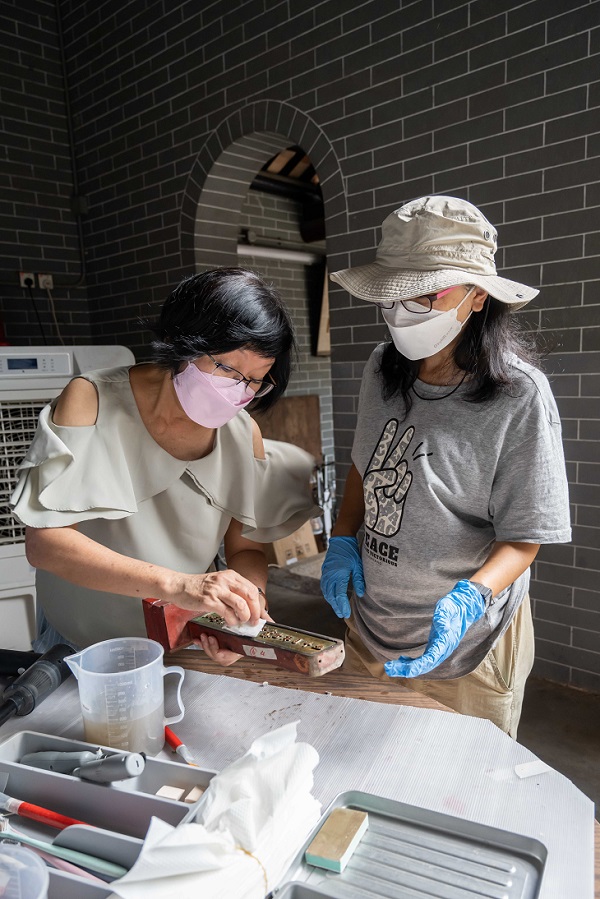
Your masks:
[{"label": "beige bucket hat on the woman in the grey T-shirt", "polygon": [[352,296],[373,303],[407,300],[475,284],[512,309],[539,293],[496,274],[498,233],[482,212],[458,197],[420,197],[385,219],[375,262],[332,272]]}]

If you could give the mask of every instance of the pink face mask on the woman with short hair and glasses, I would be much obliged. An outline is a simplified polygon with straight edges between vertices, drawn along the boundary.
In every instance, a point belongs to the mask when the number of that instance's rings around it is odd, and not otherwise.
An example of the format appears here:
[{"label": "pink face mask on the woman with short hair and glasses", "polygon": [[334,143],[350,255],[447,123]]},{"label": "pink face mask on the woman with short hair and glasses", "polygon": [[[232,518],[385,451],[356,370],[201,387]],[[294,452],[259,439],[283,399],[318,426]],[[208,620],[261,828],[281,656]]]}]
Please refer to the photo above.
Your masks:
[{"label": "pink face mask on the woman with short hair and glasses", "polygon": [[220,428],[254,399],[243,381],[200,371],[193,362],[173,378],[173,386],[188,418],[205,428]]}]

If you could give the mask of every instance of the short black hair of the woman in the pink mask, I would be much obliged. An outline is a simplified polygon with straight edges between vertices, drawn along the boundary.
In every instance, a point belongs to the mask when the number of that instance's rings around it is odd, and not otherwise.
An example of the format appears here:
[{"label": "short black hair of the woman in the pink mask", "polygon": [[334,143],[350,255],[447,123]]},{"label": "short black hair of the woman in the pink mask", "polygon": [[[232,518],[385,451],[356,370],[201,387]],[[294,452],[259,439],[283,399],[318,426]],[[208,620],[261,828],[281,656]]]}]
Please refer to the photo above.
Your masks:
[{"label": "short black hair of the woman in the pink mask", "polygon": [[207,353],[248,349],[274,358],[273,390],[250,404],[270,408],[285,392],[297,353],[289,313],[279,294],[256,272],[217,268],[185,278],[169,294],[152,327],[152,359],[173,377],[183,362]]}]

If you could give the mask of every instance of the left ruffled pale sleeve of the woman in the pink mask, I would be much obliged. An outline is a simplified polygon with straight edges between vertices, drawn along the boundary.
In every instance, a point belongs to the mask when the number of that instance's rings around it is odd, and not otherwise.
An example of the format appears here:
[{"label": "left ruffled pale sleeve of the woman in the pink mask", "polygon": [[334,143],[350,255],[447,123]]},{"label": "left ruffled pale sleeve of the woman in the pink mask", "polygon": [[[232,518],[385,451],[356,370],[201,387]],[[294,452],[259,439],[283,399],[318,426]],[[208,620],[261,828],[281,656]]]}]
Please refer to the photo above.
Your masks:
[{"label": "left ruffled pale sleeve of the woman in the pink mask", "polygon": [[137,511],[119,446],[108,446],[95,425],[55,425],[51,405],[40,413],[33,443],[19,466],[11,505],[17,518],[34,528],[124,518]]}]

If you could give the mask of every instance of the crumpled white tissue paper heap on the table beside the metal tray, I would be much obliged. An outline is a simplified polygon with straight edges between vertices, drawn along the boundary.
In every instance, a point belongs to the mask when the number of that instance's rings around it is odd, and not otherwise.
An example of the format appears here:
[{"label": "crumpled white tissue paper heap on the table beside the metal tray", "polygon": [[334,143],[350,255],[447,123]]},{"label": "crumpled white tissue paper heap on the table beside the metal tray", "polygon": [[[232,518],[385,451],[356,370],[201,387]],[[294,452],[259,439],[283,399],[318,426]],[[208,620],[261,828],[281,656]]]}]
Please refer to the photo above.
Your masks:
[{"label": "crumpled white tissue paper heap on the table beside the metal tray", "polygon": [[264,899],[321,814],[312,796],[319,756],[296,743],[298,722],[254,741],[210,782],[197,823],[152,818],[133,868],[110,899]]}]

